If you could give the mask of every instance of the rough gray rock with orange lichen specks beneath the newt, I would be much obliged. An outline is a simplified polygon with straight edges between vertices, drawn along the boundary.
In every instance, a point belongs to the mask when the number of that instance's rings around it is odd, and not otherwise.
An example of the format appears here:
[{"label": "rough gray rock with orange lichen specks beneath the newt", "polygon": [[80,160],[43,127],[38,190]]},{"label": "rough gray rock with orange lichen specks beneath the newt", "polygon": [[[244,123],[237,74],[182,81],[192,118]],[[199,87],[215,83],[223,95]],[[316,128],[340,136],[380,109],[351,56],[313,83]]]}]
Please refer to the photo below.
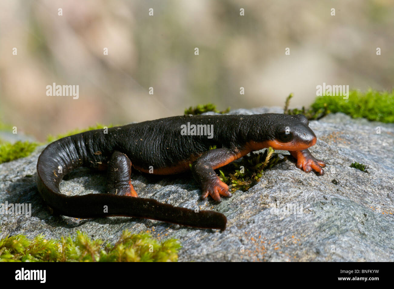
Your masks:
[{"label": "rough gray rock with orange lichen specks beneath the newt", "polygon": [[[281,109],[230,113],[263,112]],[[141,197],[188,208],[198,205],[225,214],[228,224],[223,233],[126,217],[77,220],[52,216],[35,184],[37,158],[44,149],[39,147],[30,157],[0,164],[1,202],[32,204],[30,218],[0,215],[1,237],[22,233],[59,238],[81,230],[115,242],[129,229],[179,239],[183,246],[180,261],[393,261],[394,124],[338,113],[310,121],[310,127],[318,137],[310,151],[327,163],[323,176],[305,173],[286,160],[267,170],[247,192],[237,191],[220,204],[210,198],[201,201],[199,186],[190,174],[159,177],[133,173],[133,185]],[[350,168],[355,161],[368,165],[368,173]],[[61,183],[64,194],[104,190],[105,174],[85,168]],[[277,204],[279,209],[274,207]],[[282,209],[286,205],[290,211]]]}]

